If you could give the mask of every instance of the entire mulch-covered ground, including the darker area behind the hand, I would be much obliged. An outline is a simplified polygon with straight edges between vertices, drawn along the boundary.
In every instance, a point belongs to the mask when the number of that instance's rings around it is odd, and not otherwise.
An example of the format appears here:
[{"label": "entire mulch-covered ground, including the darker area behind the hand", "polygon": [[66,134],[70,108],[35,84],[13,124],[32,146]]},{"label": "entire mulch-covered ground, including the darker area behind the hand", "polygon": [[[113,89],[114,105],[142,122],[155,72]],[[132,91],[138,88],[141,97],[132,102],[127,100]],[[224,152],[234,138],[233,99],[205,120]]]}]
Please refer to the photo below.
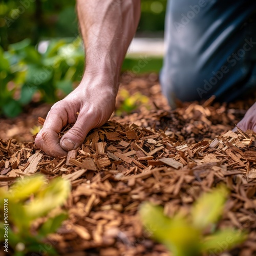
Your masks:
[{"label": "entire mulch-covered ground, including the darker area behind the hand", "polygon": [[[35,172],[71,180],[69,219],[50,236],[60,254],[167,255],[143,231],[140,203],[161,204],[170,217],[180,210],[186,215],[202,191],[226,183],[231,194],[218,227],[249,230],[248,240],[229,253],[255,255],[256,135],[228,132],[253,100],[185,103],[170,111],[156,74],[123,75],[122,88],[148,96],[147,107],[113,116],[67,158],[53,159],[33,144],[29,129],[45,118],[48,105],[1,119],[0,185]],[[118,95],[117,109],[121,104]]]}]

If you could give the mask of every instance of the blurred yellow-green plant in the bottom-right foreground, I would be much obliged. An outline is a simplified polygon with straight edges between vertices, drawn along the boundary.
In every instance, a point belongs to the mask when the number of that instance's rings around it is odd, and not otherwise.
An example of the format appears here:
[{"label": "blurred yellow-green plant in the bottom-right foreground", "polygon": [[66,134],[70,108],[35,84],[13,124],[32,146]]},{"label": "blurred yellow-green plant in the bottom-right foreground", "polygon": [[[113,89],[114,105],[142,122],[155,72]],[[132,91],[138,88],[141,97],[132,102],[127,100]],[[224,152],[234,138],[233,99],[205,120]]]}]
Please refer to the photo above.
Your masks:
[{"label": "blurred yellow-green plant in the bottom-right foreground", "polygon": [[223,186],[203,194],[187,218],[176,215],[170,219],[164,216],[162,207],[148,202],[142,204],[139,214],[144,227],[158,242],[172,251],[173,255],[218,255],[242,243],[247,237],[244,232],[231,228],[204,234],[220,218],[226,197],[227,190]]}]

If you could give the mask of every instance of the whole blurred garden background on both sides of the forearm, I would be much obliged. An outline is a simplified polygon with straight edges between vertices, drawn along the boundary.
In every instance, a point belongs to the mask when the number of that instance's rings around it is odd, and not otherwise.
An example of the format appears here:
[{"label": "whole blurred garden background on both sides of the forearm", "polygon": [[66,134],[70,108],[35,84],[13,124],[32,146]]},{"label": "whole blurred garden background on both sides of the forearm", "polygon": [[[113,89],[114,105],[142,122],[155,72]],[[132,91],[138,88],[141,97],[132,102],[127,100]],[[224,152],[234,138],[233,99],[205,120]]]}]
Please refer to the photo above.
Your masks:
[{"label": "whole blurred garden background on both sides of the forearm", "polygon": [[[141,2],[122,72],[159,72],[162,66],[166,0]],[[138,67],[140,59],[145,67]],[[0,115],[15,117],[31,102],[65,97],[81,79],[83,65],[75,0],[0,3]]]}]

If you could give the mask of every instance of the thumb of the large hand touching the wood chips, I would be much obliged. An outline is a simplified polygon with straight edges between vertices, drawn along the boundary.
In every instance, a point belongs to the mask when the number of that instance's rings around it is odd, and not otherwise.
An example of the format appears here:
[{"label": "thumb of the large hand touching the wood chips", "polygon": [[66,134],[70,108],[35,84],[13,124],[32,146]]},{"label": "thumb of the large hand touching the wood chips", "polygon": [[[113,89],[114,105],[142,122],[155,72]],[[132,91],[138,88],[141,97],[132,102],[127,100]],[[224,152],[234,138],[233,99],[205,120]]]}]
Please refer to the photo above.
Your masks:
[{"label": "thumb of the large hand touching the wood chips", "polygon": [[80,113],[74,126],[60,140],[60,146],[63,150],[71,151],[79,147],[93,128],[91,122],[92,119],[88,115]]}]

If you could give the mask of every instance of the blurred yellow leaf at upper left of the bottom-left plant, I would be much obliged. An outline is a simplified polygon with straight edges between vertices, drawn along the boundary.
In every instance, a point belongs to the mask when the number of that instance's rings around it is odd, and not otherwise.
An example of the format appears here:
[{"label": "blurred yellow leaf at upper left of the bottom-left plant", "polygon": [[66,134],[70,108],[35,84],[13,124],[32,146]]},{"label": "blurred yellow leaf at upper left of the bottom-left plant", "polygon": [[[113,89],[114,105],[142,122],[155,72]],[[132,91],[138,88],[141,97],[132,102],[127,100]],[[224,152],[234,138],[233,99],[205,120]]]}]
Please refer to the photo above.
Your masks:
[{"label": "blurred yellow leaf at upper left of the bottom-left plant", "polygon": [[9,198],[14,201],[28,199],[31,194],[37,193],[46,184],[42,175],[33,175],[17,180],[10,188]]}]

